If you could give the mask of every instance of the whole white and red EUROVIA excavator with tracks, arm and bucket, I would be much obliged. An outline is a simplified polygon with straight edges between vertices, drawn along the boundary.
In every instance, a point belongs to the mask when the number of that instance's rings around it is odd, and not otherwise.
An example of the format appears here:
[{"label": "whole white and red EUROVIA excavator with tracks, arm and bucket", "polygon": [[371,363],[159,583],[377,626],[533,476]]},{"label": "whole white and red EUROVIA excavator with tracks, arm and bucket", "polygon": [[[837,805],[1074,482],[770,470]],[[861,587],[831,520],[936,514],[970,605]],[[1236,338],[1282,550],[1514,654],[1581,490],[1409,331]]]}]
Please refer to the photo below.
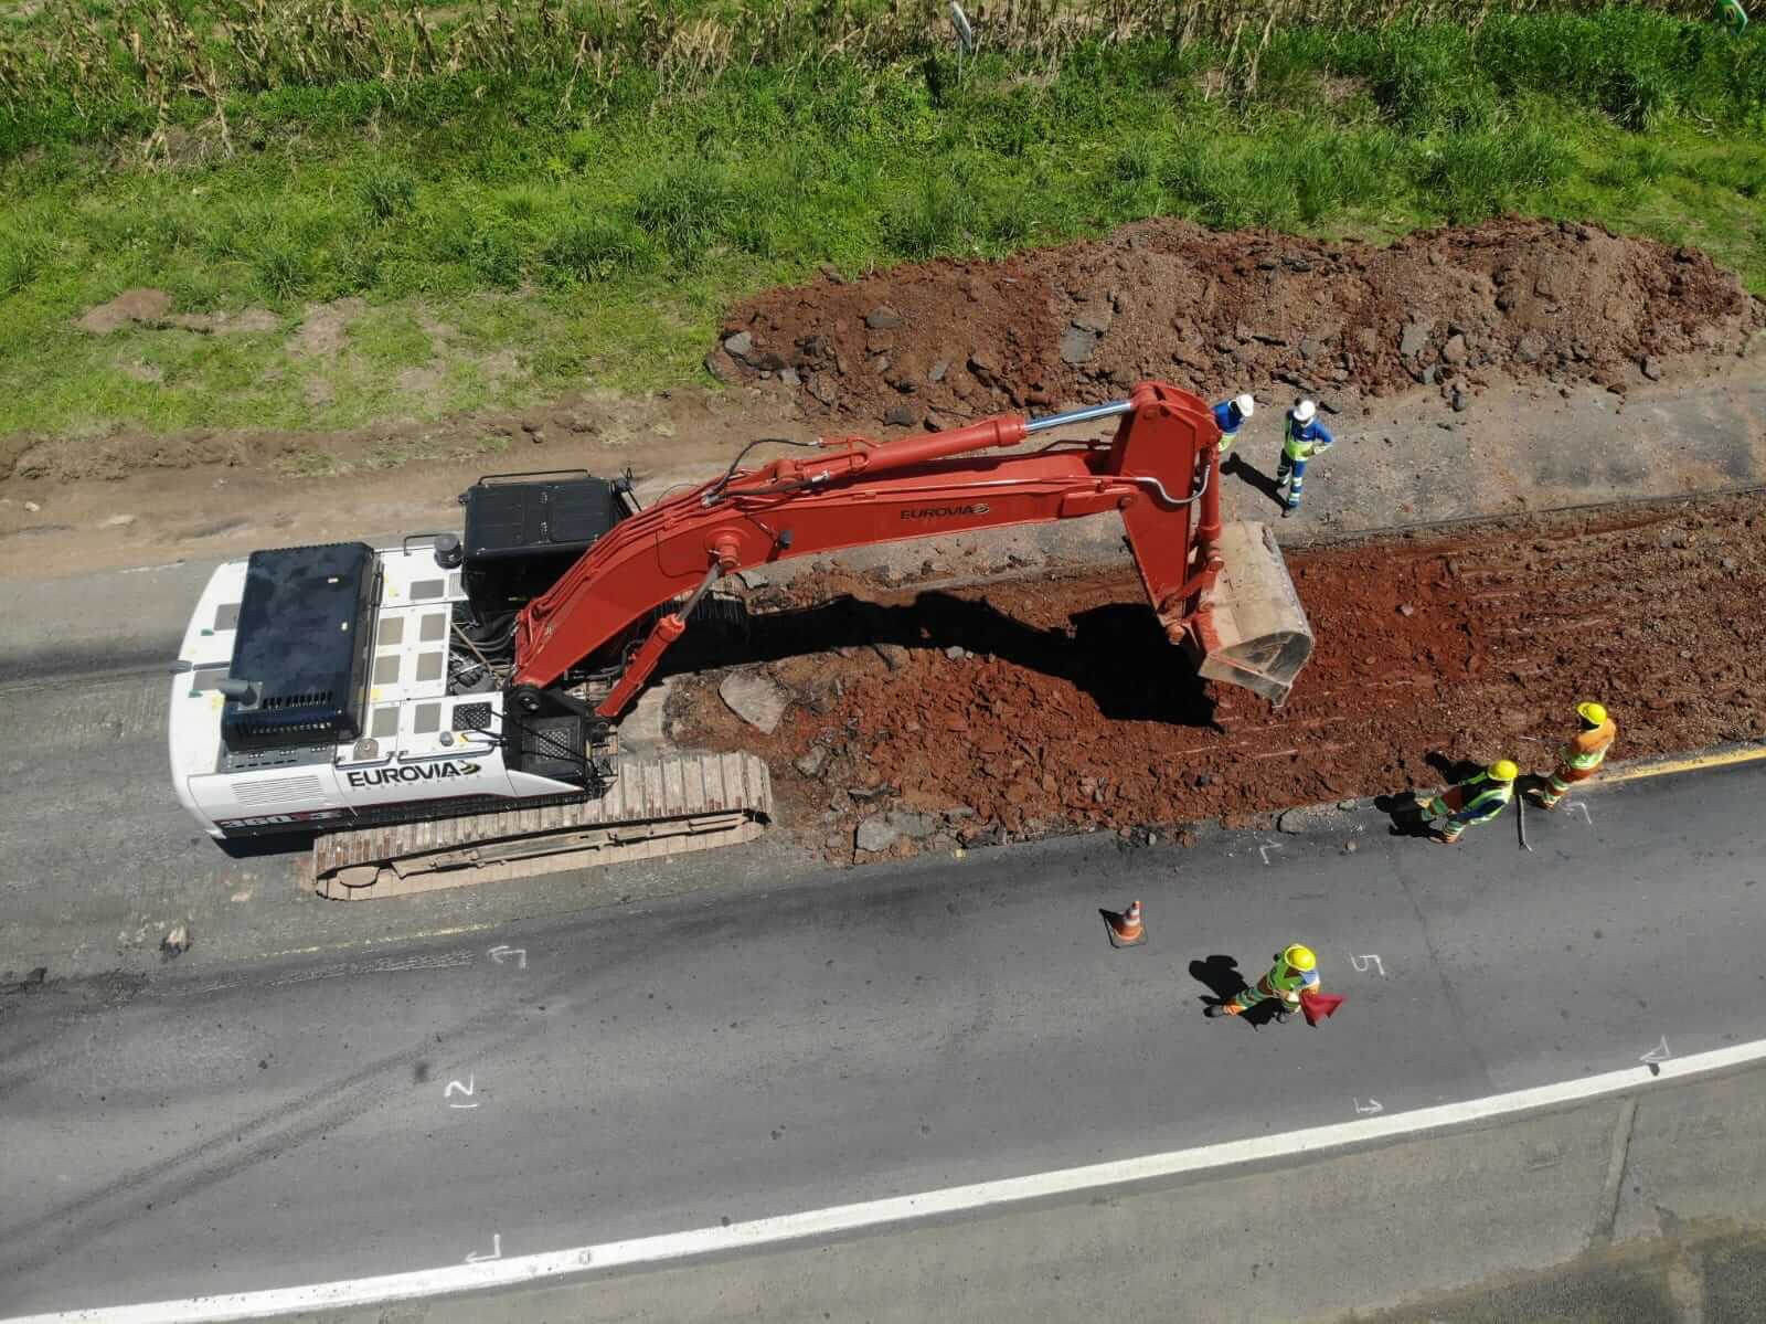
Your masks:
[{"label": "whole white and red EUROVIA excavator with tracks, arm and bucket", "polygon": [[[1268,527],[1222,525],[1219,435],[1201,398],[1141,382],[892,442],[761,438],[650,506],[629,477],[489,476],[463,537],[253,552],[214,571],[178,651],[177,795],[224,845],[311,836],[313,886],[350,900],[751,840],[765,762],[620,741],[669,647],[740,622],[729,576],[1095,514],[1121,520],[1196,673],[1279,705],[1312,635]],[[812,454],[745,467],[768,442]]]}]

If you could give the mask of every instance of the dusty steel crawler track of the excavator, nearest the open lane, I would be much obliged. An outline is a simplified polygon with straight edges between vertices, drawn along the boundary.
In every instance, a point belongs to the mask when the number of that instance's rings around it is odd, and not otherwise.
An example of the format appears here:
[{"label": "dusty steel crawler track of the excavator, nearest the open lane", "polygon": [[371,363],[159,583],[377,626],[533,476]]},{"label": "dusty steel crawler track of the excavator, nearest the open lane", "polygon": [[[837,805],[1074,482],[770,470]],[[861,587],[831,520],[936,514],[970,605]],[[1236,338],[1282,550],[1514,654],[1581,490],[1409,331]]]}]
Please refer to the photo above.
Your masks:
[{"label": "dusty steel crawler track of the excavator, nearest the open lane", "polygon": [[618,772],[600,799],[328,833],[313,889],[353,902],[657,859],[752,841],[772,818],[754,755],[623,757]]}]

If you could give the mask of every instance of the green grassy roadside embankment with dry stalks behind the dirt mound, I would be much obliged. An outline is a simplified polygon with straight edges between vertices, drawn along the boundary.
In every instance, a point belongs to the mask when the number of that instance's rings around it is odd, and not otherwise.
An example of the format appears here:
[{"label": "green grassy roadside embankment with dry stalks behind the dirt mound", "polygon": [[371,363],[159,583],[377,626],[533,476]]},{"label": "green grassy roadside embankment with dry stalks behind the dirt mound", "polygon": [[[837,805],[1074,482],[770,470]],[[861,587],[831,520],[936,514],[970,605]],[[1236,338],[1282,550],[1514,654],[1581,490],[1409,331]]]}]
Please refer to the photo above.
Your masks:
[{"label": "green grassy roadside embankment with dry stalks behind the dirt mound", "polygon": [[[731,297],[816,263],[1151,214],[1363,237],[1591,217],[1766,292],[1766,23],[1480,7],[1468,34],[1220,4],[1173,32],[1169,5],[1128,4],[1106,39],[1019,7],[959,76],[936,7],[514,0],[424,30],[325,0],[226,5],[228,30],[221,9],[0,9],[0,472],[26,433],[341,428],[692,380]],[[279,329],[72,327],[132,286]],[[304,306],[343,297],[366,309],[302,348]]]}]

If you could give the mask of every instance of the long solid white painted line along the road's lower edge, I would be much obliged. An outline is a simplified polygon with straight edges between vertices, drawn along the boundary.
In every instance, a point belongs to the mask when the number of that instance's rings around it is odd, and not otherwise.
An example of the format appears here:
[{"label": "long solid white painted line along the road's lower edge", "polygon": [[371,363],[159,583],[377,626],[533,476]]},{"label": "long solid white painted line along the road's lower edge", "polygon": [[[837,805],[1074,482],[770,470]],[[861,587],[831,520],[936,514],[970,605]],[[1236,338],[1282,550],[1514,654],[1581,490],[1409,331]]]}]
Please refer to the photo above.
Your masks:
[{"label": "long solid white painted line along the road's lower edge", "polygon": [[[943,1214],[964,1214],[977,1209],[1023,1204],[1056,1195],[1072,1195],[1106,1186],[1176,1177],[1190,1172],[1208,1172],[1240,1163],[1261,1163],[1272,1158],[1317,1154],[1344,1145],[1372,1140],[1411,1137],[1448,1126],[1466,1126],[1494,1117],[1510,1117],[1536,1108],[1586,1103],[1609,1094],[1630,1094],[1660,1089],[1665,1080],[1685,1080],[1711,1071],[1766,1062],[1766,1039],[1741,1043],[1732,1048],[1715,1048],[1692,1057],[1672,1057],[1651,1066],[1649,1075],[1641,1066],[1607,1071],[1582,1080],[1563,1080],[1556,1085],[1517,1089],[1508,1094],[1491,1094],[1466,1103],[1441,1103],[1415,1112],[1386,1112],[1360,1117],[1353,1122],[1312,1126],[1305,1131],[1266,1135],[1250,1140],[1227,1140],[1199,1149],[1176,1149],[1167,1154],[1143,1154],[1113,1163],[1091,1163],[1083,1168],[1038,1172],[1030,1177],[980,1181],[971,1186],[947,1186],[920,1195],[897,1195],[887,1200],[841,1204],[830,1209],[809,1209],[798,1214],[756,1218],[729,1227],[701,1227],[691,1232],[666,1232],[630,1241],[604,1241],[599,1246],[553,1250],[539,1255],[514,1255],[500,1260],[454,1264],[413,1273],[390,1273],[376,1278],[346,1278],[307,1287],[277,1287],[265,1292],[235,1292],[230,1296],[198,1296],[184,1301],[152,1301],[136,1306],[101,1306],[95,1310],[65,1310],[51,1315],[23,1315],[9,1324],[212,1324],[214,1320],[265,1319],[348,1306],[381,1306],[394,1301],[473,1292],[487,1287],[516,1287],[547,1278],[563,1278],[597,1269],[620,1269],[639,1264],[668,1264],[671,1260],[719,1255],[729,1252],[774,1246],[782,1241],[837,1236],[864,1229],[913,1223]],[[493,1246],[500,1252],[502,1243]]]}]

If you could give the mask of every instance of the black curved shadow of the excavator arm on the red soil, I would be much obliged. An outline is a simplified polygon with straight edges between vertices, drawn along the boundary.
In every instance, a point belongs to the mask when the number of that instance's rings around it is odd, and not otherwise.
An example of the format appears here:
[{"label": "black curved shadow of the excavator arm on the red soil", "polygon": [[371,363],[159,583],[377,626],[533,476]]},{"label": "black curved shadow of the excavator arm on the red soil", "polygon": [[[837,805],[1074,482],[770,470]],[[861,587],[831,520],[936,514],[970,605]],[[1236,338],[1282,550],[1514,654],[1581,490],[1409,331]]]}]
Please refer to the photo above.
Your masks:
[{"label": "black curved shadow of the excavator arm on the red soil", "polygon": [[1166,638],[1144,603],[1107,603],[1040,629],[991,603],[948,592],[922,592],[906,605],[834,597],[802,610],[749,617],[747,638],[701,640],[689,629],[666,654],[664,673],[736,663],[804,658],[834,649],[899,643],[908,649],[961,647],[1061,677],[1097,700],[1113,721],[1215,725],[1215,705],[1189,654]]}]

